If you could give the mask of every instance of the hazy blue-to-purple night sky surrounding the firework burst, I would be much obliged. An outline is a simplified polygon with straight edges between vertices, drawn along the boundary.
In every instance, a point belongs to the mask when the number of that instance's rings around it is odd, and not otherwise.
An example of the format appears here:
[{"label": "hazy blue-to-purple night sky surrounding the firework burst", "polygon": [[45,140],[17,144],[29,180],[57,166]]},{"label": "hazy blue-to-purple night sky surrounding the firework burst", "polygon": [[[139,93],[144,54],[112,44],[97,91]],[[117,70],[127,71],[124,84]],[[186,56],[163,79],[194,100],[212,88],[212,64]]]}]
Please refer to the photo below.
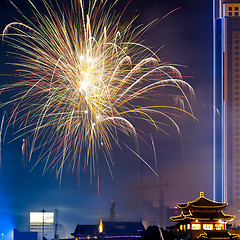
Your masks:
[{"label": "hazy blue-to-purple night sky surrounding the firework burst", "polygon": [[[65,0],[67,1],[67,0]],[[13,1],[18,8],[31,16],[27,0]],[[119,9],[126,4],[119,0]],[[178,202],[193,200],[200,191],[212,198],[212,1],[202,0],[132,0],[125,18],[139,14],[136,24],[146,25],[161,19],[177,9],[144,36],[144,44],[159,52],[160,59],[183,65],[178,67],[184,80],[190,83],[196,95],[193,111],[198,121],[187,117],[178,120],[181,138],[173,127],[166,127],[169,136],[152,132],[158,159],[158,174],[168,187],[165,190],[165,205],[175,207]],[[30,14],[30,15],[29,15]],[[0,31],[6,24],[20,18],[17,10],[7,1],[0,0]],[[1,81],[12,81],[12,68],[5,63],[6,46],[0,48]],[[0,109],[0,117],[3,111]],[[129,150],[113,149],[112,179],[104,159],[100,159],[100,192],[96,179],[90,184],[89,172],[82,172],[80,181],[76,174],[64,173],[61,186],[54,172],[44,175],[43,164],[32,171],[31,164],[24,164],[21,157],[21,141],[9,143],[8,132],[2,145],[2,166],[0,169],[0,233],[8,238],[14,227],[20,231],[28,229],[30,211],[59,211],[59,222],[67,236],[77,224],[95,224],[100,217],[109,217],[111,200],[116,202],[116,220],[139,220],[135,203],[139,199],[141,163]],[[150,139],[146,139],[150,142]],[[151,166],[154,156],[151,148],[141,145],[141,155]],[[156,176],[144,165],[144,186],[154,185]],[[158,193],[146,190],[144,200],[158,203]]]}]

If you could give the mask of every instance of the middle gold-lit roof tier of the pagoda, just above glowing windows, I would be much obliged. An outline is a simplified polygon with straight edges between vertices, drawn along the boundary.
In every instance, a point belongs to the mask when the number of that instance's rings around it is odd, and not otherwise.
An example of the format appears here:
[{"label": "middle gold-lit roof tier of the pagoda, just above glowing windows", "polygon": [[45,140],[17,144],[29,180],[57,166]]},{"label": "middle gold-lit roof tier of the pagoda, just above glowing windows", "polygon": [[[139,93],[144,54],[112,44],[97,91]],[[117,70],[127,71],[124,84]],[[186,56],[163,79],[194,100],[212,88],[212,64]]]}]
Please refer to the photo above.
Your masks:
[{"label": "middle gold-lit roof tier of the pagoda, just above glowing windows", "polygon": [[170,217],[170,219],[173,222],[176,222],[176,221],[180,222],[180,221],[184,221],[184,220],[200,220],[200,221],[225,220],[225,221],[227,221],[227,220],[232,220],[234,218],[235,218],[235,216],[224,214],[222,211],[218,211],[218,212],[191,212],[191,211],[189,211],[188,214],[181,212],[181,214],[179,216]]}]

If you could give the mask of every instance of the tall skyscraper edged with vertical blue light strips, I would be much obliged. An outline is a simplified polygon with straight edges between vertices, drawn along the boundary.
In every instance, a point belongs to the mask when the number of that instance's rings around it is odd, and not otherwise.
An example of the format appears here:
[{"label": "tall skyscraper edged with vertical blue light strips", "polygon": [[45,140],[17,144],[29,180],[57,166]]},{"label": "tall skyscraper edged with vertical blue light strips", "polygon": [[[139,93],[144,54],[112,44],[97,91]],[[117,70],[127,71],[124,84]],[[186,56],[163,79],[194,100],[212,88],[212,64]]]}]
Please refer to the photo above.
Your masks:
[{"label": "tall skyscraper edged with vertical blue light strips", "polygon": [[213,9],[213,198],[240,208],[240,0]]}]

